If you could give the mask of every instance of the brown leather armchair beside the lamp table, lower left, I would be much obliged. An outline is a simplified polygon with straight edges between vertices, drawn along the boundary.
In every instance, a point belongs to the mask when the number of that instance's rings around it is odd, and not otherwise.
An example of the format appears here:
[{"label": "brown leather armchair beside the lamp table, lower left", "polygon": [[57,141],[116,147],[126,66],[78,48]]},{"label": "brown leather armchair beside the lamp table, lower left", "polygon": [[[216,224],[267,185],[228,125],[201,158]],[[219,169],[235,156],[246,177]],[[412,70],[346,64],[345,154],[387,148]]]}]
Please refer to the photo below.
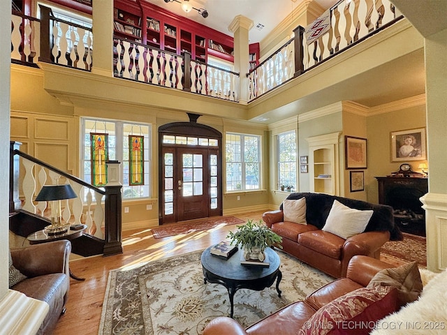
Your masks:
[{"label": "brown leather armchair beside the lamp table, lower left", "polygon": [[10,253],[14,267],[27,276],[23,281],[13,285],[11,290],[45,301],[50,306],[37,334],[52,334],[60,315],[65,313],[70,288],[68,267],[70,241],[35,244],[11,249]]}]

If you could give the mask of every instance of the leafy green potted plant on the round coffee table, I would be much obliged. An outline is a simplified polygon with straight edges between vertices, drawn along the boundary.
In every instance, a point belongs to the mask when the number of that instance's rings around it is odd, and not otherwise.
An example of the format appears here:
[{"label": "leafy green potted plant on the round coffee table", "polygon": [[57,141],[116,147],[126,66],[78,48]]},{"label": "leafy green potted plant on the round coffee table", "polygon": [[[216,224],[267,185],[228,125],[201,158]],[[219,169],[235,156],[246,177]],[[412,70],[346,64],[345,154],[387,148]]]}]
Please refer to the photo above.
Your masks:
[{"label": "leafy green potted plant on the round coffee table", "polygon": [[245,225],[237,225],[237,232],[229,232],[228,239],[240,245],[245,260],[265,260],[265,248],[277,246],[282,248],[282,237],[263,224],[262,220],[248,220]]}]

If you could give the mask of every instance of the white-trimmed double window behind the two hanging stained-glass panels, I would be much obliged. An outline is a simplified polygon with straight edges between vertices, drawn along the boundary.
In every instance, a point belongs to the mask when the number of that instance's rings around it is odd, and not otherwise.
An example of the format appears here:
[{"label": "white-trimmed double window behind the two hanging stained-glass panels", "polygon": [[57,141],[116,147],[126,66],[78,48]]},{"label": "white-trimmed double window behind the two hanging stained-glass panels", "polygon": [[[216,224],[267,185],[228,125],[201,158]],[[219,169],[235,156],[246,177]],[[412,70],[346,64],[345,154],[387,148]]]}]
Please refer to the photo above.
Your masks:
[{"label": "white-trimmed double window behind the two hanging stained-glass panels", "polygon": [[[126,121],[105,119],[81,119],[81,173],[82,179],[89,184],[92,181],[91,133],[106,134],[108,137],[108,160],[121,162],[123,199],[150,198],[151,187],[151,124],[137,124]],[[141,185],[129,185],[129,136],[142,136],[142,176]],[[131,148],[132,149],[132,148]]]}]

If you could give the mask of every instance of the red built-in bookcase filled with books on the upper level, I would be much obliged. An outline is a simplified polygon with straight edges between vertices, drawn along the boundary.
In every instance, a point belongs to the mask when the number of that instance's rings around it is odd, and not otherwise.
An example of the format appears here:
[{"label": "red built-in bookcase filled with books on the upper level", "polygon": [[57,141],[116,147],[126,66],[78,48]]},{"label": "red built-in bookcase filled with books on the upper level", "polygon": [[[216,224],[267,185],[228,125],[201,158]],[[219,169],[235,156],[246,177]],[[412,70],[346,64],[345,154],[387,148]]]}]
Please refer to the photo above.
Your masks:
[{"label": "red built-in bookcase filled with books on the upper level", "polygon": [[[189,52],[191,59],[198,61],[206,62],[208,56],[234,61],[231,36],[147,1],[136,3],[115,0],[114,6],[114,29],[117,37],[175,54]],[[254,61],[258,61],[258,54],[259,52],[254,52]]]}]

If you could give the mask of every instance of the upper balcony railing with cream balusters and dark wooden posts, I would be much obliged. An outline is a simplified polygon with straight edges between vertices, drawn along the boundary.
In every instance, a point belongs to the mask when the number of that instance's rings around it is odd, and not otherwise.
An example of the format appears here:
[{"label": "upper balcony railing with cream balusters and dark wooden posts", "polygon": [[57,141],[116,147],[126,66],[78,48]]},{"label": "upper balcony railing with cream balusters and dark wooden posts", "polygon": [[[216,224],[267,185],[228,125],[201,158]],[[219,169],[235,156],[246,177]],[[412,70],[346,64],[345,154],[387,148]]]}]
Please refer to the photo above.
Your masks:
[{"label": "upper balcony railing with cream balusters and dark wooden posts", "polygon": [[[41,5],[40,5],[41,6]],[[341,0],[330,8],[330,28],[307,44],[305,29],[247,73],[249,101],[318,66],[339,52],[360,43],[402,15],[390,0]],[[25,65],[45,61],[91,70],[91,29],[59,20],[50,8],[41,6],[41,20],[13,11],[11,60]],[[188,64],[189,66],[186,66]],[[132,40],[114,37],[115,77],[239,101],[236,87],[240,74],[191,59],[191,54],[173,54]]]}]

